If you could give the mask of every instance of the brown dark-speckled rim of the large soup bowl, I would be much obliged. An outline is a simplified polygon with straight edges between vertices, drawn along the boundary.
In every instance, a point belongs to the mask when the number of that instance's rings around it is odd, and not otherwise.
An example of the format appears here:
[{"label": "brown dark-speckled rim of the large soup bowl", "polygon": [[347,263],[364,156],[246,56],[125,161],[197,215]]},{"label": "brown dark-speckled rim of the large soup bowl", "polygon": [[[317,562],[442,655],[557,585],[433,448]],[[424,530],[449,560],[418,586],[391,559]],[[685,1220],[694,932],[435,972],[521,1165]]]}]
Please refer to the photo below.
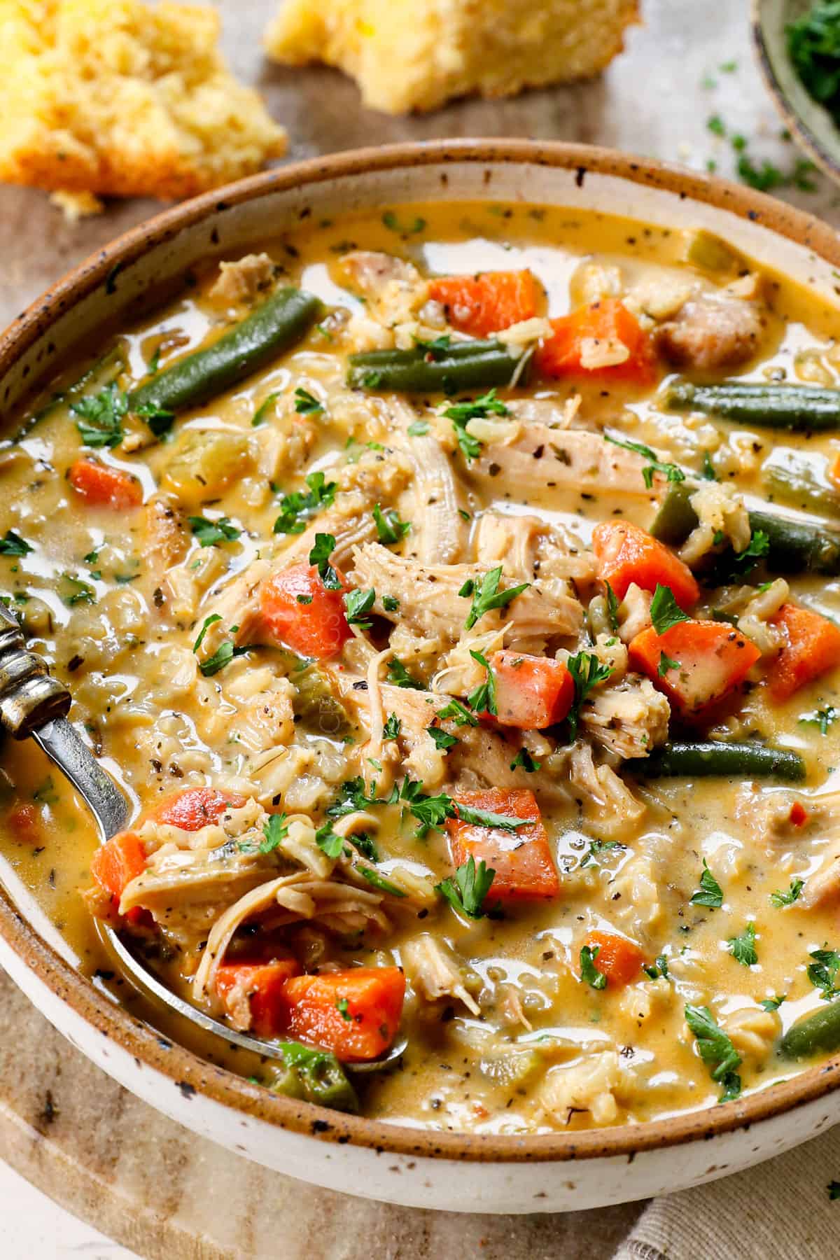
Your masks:
[{"label": "brown dark-speckled rim of the large soup bowl", "polygon": [[[336,176],[447,163],[530,164],[574,170],[578,184],[589,171],[690,198],[761,223],[840,268],[840,237],[812,215],[751,189],[646,158],[589,145],[530,140],[443,140],[388,145],[316,158],[280,166],[207,193],[164,210],[97,251],[47,290],[0,336],[0,381],[11,365],[76,302],[96,290],[115,268],[133,262],[154,246],[170,241],[191,224],[275,190],[311,185]],[[348,1116],[298,1102],[249,1085],[225,1068],[208,1063],[181,1046],[170,1045],[154,1028],[101,993],[49,946],[0,890],[0,936],[49,990],[98,1033],[132,1055],[139,1065],[167,1077],[186,1097],[201,1094],[232,1113],[309,1134],[327,1143],[351,1143],[382,1153],[476,1163],[567,1162],[623,1157],[628,1162],[661,1147],[704,1140],[782,1115],[840,1087],[840,1056],[788,1081],[756,1094],[646,1124],[574,1133],[496,1135],[419,1130]]]}]

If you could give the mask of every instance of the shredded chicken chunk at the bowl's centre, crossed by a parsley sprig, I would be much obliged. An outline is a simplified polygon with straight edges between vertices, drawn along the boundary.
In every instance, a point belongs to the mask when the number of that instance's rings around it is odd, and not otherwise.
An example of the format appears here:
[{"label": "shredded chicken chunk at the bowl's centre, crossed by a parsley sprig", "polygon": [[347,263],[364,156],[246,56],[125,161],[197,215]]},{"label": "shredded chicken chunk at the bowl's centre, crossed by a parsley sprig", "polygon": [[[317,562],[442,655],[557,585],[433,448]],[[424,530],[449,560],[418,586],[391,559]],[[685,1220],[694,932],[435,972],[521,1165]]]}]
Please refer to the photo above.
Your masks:
[{"label": "shredded chicken chunk at the bowl's centre, crossed by a parsley sprig", "polygon": [[[353,585],[377,591],[374,611],[390,621],[403,621],[427,638],[455,643],[460,639],[470,611],[470,597],[458,595],[467,581],[480,582],[486,570],[477,564],[423,566],[394,556],[378,543],[356,547]],[[399,607],[388,610],[385,595],[397,596]],[[583,607],[567,593],[565,582],[552,578],[533,582],[506,607],[491,610],[481,619],[481,629],[511,624],[515,639],[533,635],[548,638],[577,635],[583,624]]]}]

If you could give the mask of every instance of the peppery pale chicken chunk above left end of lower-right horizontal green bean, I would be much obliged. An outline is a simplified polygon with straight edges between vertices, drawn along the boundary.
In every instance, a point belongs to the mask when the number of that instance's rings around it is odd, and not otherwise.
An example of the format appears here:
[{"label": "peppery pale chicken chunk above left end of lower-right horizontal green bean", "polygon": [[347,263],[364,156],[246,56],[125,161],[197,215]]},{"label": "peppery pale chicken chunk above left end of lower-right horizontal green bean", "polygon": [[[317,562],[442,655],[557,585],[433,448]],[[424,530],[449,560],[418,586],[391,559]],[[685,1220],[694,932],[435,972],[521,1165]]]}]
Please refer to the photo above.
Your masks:
[{"label": "peppery pale chicken chunk above left end of lower-right horizontal green bean", "polygon": [[649,678],[628,674],[581,706],[581,730],[620,757],[646,757],[667,740],[671,709]]}]

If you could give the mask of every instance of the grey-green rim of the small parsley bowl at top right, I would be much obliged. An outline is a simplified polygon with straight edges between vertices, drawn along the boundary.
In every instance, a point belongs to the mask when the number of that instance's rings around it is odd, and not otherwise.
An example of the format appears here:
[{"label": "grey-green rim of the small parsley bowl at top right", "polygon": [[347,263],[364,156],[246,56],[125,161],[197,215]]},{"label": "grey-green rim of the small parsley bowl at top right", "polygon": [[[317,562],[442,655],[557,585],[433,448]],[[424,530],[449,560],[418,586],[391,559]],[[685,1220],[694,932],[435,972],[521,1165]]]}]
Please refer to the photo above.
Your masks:
[{"label": "grey-green rim of the small parsley bowl at top right", "polygon": [[840,184],[840,129],[809,94],[787,54],[787,25],[814,0],[752,0],[752,37],[758,64],[785,126],[826,175]]}]

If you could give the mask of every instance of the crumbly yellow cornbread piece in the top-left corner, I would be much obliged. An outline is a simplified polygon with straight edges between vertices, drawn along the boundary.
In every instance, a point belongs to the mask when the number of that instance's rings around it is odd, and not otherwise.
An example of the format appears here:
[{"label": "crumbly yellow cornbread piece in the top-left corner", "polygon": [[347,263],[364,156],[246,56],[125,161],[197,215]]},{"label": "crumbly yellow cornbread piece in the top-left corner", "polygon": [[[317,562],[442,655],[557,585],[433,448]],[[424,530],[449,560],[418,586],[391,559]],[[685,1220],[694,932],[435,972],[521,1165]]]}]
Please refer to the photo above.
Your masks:
[{"label": "crumbly yellow cornbread piece in the top-left corner", "polygon": [[286,134],[228,72],[208,6],[0,0],[0,179],[191,197],[257,170]]}]

